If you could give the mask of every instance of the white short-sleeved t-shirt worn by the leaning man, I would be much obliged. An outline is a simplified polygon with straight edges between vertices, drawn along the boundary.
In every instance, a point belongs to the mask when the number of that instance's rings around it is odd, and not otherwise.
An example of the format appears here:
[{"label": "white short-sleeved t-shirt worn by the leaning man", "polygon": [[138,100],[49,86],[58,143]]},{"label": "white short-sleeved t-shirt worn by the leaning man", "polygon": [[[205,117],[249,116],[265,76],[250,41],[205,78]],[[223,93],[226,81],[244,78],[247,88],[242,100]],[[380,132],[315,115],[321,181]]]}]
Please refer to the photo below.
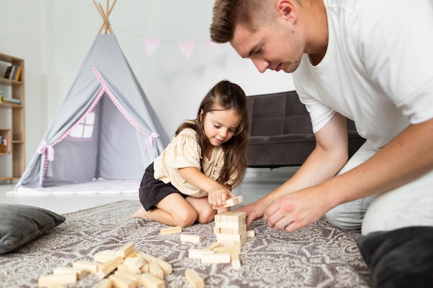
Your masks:
[{"label": "white short-sleeved t-shirt worn by the leaning man", "polygon": [[338,112],[380,148],[433,118],[432,0],[324,0],[326,55],[293,80],[317,132]]}]

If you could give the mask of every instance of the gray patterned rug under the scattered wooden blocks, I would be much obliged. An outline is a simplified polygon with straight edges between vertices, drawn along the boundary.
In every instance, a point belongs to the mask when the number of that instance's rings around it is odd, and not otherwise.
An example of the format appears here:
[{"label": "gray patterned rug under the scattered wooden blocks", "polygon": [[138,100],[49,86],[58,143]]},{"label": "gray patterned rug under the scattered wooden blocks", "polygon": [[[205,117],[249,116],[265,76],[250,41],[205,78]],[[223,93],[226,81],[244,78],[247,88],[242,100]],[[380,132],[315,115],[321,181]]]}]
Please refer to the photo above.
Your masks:
[{"label": "gray patterned rug under the scattered wooden blocks", "polygon": [[[166,287],[190,287],[185,269],[195,269],[205,287],[371,287],[369,272],[354,237],[359,231],[340,231],[321,220],[287,234],[253,222],[255,238],[241,247],[241,269],[230,264],[201,264],[188,258],[188,249],[216,242],[214,223],[194,224],[182,233],[203,236],[203,242],[180,242],[179,234],[160,235],[167,226],[131,219],[138,201],[125,200],[64,214],[66,221],[24,247],[0,256],[1,287],[37,287],[37,278],[55,267],[72,266],[77,260],[93,260],[105,249],[119,249],[134,242],[136,250],[163,258],[173,273]],[[97,287],[99,279],[87,276],[73,287]]]}]

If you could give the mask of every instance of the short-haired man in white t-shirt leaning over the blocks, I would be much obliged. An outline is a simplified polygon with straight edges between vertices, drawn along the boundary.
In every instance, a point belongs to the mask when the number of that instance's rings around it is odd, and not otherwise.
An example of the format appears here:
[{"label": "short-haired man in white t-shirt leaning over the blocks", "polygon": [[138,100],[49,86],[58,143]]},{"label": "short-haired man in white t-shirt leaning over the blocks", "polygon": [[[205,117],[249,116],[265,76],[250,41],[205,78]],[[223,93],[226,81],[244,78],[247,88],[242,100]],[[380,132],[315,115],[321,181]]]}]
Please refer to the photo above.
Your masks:
[{"label": "short-haired man in white t-shirt leaning over the blocks", "polygon": [[[293,73],[316,147],[241,208],[287,233],[318,220],[362,234],[433,226],[433,1],[216,0],[213,41]],[[367,142],[348,161],[346,117]],[[368,210],[367,210],[368,208]]]}]

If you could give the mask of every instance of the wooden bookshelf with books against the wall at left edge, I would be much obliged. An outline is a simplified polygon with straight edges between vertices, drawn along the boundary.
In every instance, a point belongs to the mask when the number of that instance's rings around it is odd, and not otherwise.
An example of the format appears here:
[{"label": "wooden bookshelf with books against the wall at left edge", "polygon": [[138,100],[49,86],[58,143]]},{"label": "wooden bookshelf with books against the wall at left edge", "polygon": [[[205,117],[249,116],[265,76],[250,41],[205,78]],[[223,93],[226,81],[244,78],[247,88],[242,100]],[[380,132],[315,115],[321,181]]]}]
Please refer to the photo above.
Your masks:
[{"label": "wooden bookshelf with books against the wall at left edge", "polygon": [[[21,66],[21,75],[17,81],[3,76],[10,65]],[[8,149],[0,151],[0,181],[17,180],[26,168],[24,141],[24,59],[0,53],[0,91],[3,99],[11,97],[21,100],[21,104],[0,102],[0,136],[7,138]],[[9,118],[9,119],[6,119]],[[8,121],[5,121],[8,120]],[[5,167],[10,166],[10,171]]]}]

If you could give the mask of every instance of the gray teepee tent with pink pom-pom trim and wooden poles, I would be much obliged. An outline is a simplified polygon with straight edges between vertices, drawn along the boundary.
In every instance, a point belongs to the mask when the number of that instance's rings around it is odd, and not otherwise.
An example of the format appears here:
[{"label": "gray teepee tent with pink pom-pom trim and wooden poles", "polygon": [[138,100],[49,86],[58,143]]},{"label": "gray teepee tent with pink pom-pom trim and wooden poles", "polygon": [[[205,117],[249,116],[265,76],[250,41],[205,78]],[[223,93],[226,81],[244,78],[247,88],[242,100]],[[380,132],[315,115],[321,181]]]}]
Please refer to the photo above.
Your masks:
[{"label": "gray teepee tent with pink pom-pom trim and wooden poles", "polygon": [[168,142],[116,37],[98,34],[15,191],[95,178],[139,179]]}]

